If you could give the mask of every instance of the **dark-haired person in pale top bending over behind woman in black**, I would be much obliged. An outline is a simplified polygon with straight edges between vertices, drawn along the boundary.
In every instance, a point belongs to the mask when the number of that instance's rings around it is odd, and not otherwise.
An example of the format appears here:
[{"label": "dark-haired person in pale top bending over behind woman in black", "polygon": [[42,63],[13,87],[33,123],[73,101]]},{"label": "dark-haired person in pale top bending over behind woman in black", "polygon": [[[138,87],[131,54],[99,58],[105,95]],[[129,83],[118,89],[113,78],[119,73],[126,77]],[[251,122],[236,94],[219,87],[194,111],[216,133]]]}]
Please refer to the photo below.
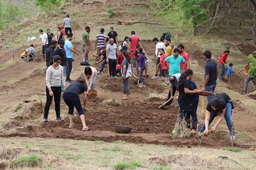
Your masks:
[{"label": "dark-haired person in pale top bending over behind woman in black", "polygon": [[[91,66],[87,66],[84,68],[83,70],[83,75],[85,77],[85,82],[86,85],[88,87],[88,91],[94,89],[95,87],[95,83],[96,83],[96,79],[97,79],[97,69]],[[91,78],[91,82],[89,85],[89,79]]]}]

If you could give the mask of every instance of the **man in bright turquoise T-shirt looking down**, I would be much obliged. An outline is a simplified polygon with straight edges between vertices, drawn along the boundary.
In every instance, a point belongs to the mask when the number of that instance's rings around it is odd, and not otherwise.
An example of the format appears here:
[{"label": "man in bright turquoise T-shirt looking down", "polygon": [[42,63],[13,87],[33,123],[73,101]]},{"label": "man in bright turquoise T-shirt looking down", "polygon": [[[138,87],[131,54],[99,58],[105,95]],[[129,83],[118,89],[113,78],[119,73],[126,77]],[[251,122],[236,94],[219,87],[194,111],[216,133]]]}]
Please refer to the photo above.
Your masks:
[{"label": "man in bright turquoise T-shirt looking down", "polygon": [[[173,75],[173,74],[177,74],[177,73],[183,73],[184,68],[186,66],[186,61],[184,60],[184,58],[182,56],[179,55],[179,52],[180,52],[179,49],[177,49],[177,48],[174,49],[174,54],[167,57],[164,60],[164,65],[169,70],[169,75],[170,76]],[[182,69],[180,69],[180,63],[181,62],[184,63]],[[167,65],[167,63],[169,63],[169,66]]]}]

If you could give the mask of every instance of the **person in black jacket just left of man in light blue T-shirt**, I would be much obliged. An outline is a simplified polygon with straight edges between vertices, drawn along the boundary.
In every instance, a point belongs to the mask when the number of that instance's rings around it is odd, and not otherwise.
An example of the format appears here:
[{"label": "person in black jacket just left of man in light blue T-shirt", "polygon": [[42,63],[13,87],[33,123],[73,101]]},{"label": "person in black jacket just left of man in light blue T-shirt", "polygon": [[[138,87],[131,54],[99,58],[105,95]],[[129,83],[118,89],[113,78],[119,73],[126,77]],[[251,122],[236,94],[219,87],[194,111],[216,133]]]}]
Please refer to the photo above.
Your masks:
[{"label": "person in black jacket just left of man in light blue T-shirt", "polygon": [[[63,76],[65,75],[66,68],[68,66],[67,64],[67,57],[66,57],[66,51],[64,50],[65,41],[64,39],[59,40],[59,45],[56,47],[55,54],[59,55],[61,58],[60,65],[63,68]],[[64,91],[64,86],[61,85],[61,90]]]}]

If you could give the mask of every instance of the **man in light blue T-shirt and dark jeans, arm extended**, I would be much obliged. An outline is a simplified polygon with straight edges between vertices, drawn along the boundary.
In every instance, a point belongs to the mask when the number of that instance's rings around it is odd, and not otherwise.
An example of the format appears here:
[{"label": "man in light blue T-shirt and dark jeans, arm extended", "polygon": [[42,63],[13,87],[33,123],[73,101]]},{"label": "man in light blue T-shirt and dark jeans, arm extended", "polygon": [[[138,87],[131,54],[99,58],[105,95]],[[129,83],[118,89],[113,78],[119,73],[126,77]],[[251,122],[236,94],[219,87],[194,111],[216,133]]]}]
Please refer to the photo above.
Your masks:
[{"label": "man in light blue T-shirt and dark jeans, arm extended", "polygon": [[66,51],[67,63],[68,63],[67,77],[66,77],[66,82],[67,83],[73,82],[73,80],[70,79],[70,73],[71,73],[71,70],[72,70],[72,62],[73,62],[73,54],[75,52],[77,55],[79,55],[79,52],[77,52],[73,49],[73,45],[71,43],[72,39],[73,39],[73,34],[68,33],[67,34],[67,40],[65,41],[65,45],[64,45],[64,49]]}]

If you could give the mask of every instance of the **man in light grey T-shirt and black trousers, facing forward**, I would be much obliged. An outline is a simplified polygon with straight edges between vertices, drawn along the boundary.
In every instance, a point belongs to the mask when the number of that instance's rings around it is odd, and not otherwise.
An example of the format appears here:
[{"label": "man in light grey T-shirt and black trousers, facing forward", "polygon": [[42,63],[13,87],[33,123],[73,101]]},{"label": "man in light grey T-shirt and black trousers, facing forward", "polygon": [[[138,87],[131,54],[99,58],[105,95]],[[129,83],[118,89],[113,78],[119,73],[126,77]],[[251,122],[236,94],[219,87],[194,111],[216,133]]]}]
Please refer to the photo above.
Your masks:
[{"label": "man in light grey T-shirt and black trousers, facing forward", "polygon": [[110,38],[109,45],[107,46],[107,63],[109,63],[109,75],[118,79],[116,76],[116,67],[117,67],[117,53],[118,46],[114,43],[114,39]]}]

